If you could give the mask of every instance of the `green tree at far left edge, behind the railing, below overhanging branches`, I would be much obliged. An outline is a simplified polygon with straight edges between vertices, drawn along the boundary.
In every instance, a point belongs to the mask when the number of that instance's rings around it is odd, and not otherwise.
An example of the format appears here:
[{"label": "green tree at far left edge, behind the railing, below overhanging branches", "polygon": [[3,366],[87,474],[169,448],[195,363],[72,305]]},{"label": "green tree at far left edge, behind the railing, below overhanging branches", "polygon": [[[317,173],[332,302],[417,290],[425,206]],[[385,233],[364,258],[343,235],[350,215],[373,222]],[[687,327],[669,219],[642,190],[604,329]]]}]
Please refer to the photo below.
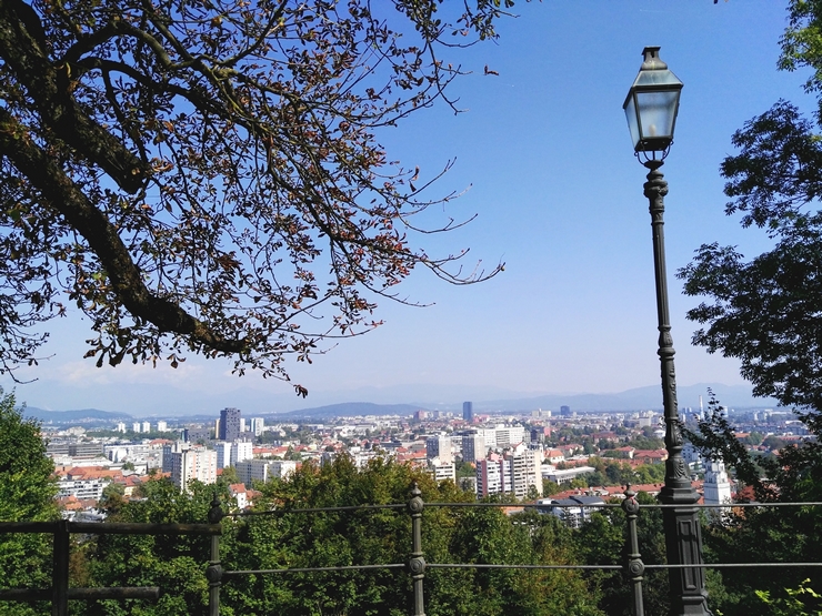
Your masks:
[{"label": "green tree at far left edge, behind the railing, below overhanging branches", "polygon": [[[14,405],[14,395],[0,388],[0,522],[58,519],[53,472],[39,424],[23,418],[22,410]],[[51,559],[47,535],[0,535],[0,585],[47,588],[51,586]],[[48,604],[0,603],[0,615],[28,616],[48,608]]]}]

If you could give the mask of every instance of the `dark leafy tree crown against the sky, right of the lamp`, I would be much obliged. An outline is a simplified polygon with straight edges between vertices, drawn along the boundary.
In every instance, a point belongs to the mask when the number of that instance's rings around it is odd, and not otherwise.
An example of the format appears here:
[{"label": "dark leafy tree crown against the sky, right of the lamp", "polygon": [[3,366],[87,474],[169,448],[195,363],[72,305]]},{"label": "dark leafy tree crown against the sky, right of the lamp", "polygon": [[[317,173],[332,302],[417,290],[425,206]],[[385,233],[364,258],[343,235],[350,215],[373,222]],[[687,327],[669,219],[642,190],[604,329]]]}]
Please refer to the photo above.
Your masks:
[{"label": "dark leafy tree crown against the sky, right of the lamp", "polygon": [[[822,92],[822,3],[794,0],[780,67],[812,69]],[[819,100],[822,105],[822,98]],[[772,250],[746,259],[735,246],[703,244],[679,272],[685,293],[705,297],[688,317],[693,343],[741,361],[759,396],[822,410],[822,107],[804,117],[785,100],[734,133],[739,152],[722,162],[728,214],[760,228]]]}]

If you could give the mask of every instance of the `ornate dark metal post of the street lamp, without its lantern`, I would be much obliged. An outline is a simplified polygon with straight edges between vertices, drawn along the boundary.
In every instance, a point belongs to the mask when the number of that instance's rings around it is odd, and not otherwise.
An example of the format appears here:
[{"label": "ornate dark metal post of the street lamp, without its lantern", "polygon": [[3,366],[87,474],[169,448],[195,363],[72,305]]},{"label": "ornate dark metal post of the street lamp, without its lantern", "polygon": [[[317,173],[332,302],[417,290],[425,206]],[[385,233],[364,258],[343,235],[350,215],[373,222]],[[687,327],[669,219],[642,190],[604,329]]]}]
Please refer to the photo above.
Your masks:
[{"label": "ornate dark metal post of the street lamp, without its lantern", "polygon": [[665,505],[676,505],[663,509],[665,529],[665,548],[670,565],[696,565],[693,568],[669,569],[672,616],[710,616],[708,609],[704,569],[702,565],[702,533],[699,511],[694,506],[699,501],[696,491],[691,485],[691,476],[682,457],[682,431],[680,430],[679,408],[676,403],[676,374],[673,366],[673,339],[671,337],[671,319],[668,307],[668,275],[665,271],[665,233],[663,214],[664,198],[668,194],[660,168],[662,160],[648,160],[648,182],[644,193],[651,212],[653,231],[653,265],[656,281],[656,315],[659,320],[660,370],[662,374],[662,404],[665,416],[665,485],[660,499]]}]

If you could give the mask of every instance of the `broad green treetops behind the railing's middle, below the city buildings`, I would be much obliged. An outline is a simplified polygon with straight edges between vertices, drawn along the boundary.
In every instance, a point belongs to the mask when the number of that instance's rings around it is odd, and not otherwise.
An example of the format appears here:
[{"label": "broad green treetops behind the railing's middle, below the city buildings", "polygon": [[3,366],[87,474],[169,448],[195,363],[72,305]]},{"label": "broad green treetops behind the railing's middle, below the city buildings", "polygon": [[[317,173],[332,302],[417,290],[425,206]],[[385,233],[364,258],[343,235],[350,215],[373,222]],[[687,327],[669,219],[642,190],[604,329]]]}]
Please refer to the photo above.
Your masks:
[{"label": "broad green treetops behind the railing's middle, below the city buildings", "polygon": [[[499,507],[432,506],[472,498],[453,482],[374,460],[358,468],[347,456],[331,464],[304,463],[284,481],[260,484],[257,515],[223,519],[221,561],[229,570],[404,564],[411,553],[409,488],[419,485],[423,553],[428,563],[573,564],[571,531],[553,516],[508,516]],[[126,504],[117,516],[130,522],[202,522],[213,486],[194,484],[178,493],[168,481],[146,484],[146,501]],[[218,486],[224,497],[223,486]],[[344,512],[294,509],[400,504],[399,508]],[[262,512],[267,512],[262,514]],[[206,614],[208,561],[203,538],[106,535],[89,553],[99,585],[160,585],[160,603],[97,602],[90,614],[106,616]],[[600,616],[598,594],[573,570],[429,568],[425,613],[432,616],[558,614]],[[227,577],[220,613],[371,614],[412,612],[411,578],[403,568],[283,572]],[[184,607],[181,607],[184,606]]]}]

